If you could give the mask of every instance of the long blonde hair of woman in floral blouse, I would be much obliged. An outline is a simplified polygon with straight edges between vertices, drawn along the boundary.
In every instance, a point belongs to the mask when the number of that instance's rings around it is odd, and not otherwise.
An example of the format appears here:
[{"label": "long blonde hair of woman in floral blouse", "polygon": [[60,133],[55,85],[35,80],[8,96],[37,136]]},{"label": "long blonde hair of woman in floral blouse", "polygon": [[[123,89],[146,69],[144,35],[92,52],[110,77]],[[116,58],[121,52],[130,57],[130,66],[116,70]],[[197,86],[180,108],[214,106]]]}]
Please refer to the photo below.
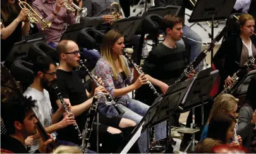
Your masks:
[{"label": "long blonde hair of woman in floral blouse", "polygon": [[[102,41],[102,45],[101,45],[101,56],[102,58],[106,59],[107,62],[109,62],[109,65],[111,65],[112,69],[113,69],[113,76],[114,79],[118,79],[118,70],[116,68],[116,65],[114,64],[114,60],[112,57],[112,48],[114,46],[114,43],[116,43],[116,41],[123,37],[123,34],[120,33],[117,30],[110,30],[108,31]],[[123,56],[118,55],[118,62],[119,62],[119,66],[121,67],[121,69],[125,72],[126,76],[128,77],[129,75],[129,70],[128,70],[128,66],[125,63],[125,59],[123,58]]]}]

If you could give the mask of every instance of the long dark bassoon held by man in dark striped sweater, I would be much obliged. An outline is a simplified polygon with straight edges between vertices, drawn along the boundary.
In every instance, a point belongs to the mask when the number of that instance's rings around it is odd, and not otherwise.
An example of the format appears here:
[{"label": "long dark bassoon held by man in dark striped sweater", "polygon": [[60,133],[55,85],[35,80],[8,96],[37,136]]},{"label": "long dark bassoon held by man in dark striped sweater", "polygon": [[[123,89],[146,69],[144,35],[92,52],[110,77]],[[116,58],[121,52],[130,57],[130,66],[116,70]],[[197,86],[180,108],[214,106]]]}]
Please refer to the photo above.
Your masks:
[{"label": "long dark bassoon held by man in dark striped sweater", "polygon": [[181,74],[181,76],[174,82],[174,84],[177,84],[178,82],[180,82],[181,80],[184,80],[186,78],[186,76],[188,74],[190,74],[190,72],[192,72],[192,70],[195,70],[195,67],[197,67],[199,65],[200,62],[202,62],[202,60],[204,60],[204,58],[207,56],[207,53],[209,53],[217,44],[217,42],[219,40],[221,40],[221,38],[228,33],[228,31],[230,30],[232,26],[231,25],[226,25],[220,33],[217,34],[217,36],[214,38],[214,40],[212,40],[212,42],[210,43],[210,45],[205,48],[192,62],[190,62],[190,64],[188,64],[188,66],[186,67],[186,69],[183,71],[183,73]]}]

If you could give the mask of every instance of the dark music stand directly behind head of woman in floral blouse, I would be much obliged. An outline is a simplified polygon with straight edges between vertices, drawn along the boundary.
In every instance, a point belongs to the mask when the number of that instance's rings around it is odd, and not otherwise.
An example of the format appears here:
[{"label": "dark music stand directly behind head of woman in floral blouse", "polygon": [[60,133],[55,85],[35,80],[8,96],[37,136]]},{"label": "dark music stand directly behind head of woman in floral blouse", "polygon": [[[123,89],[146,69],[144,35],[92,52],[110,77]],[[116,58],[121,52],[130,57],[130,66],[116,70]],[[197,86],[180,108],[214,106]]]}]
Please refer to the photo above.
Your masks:
[{"label": "dark music stand directly behind head of woman in floral blouse", "polygon": [[141,23],[141,17],[130,16],[129,18],[119,19],[111,25],[111,30],[118,30],[123,33],[125,40],[133,39],[138,26]]}]

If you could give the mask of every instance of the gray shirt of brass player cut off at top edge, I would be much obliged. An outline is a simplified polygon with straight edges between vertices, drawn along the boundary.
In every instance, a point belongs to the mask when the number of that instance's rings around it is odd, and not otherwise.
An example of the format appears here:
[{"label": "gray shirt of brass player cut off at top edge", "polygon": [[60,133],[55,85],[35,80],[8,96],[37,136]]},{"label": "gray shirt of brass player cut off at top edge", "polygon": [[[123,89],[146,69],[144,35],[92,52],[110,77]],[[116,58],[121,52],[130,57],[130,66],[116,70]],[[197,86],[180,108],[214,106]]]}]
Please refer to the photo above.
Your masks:
[{"label": "gray shirt of brass player cut off at top edge", "polygon": [[82,8],[87,8],[87,16],[81,17],[80,21],[97,19],[103,23],[102,16],[110,15],[110,6],[114,2],[119,3],[118,0],[83,0]]}]

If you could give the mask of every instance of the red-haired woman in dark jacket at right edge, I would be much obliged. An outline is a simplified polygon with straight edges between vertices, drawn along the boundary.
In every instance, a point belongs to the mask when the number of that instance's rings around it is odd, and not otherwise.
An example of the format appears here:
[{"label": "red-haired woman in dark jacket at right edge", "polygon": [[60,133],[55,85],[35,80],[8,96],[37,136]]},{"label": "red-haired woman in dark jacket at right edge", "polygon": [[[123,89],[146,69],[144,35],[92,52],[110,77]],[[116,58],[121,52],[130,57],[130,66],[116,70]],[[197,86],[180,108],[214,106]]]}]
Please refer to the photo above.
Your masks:
[{"label": "red-haired woman in dark jacket at right edge", "polygon": [[[256,55],[256,37],[253,35],[255,19],[250,14],[239,17],[240,35],[227,38],[214,56],[213,62],[221,75],[222,85],[231,85],[233,74],[243,66],[249,58]],[[253,65],[256,69],[256,65]]]}]

